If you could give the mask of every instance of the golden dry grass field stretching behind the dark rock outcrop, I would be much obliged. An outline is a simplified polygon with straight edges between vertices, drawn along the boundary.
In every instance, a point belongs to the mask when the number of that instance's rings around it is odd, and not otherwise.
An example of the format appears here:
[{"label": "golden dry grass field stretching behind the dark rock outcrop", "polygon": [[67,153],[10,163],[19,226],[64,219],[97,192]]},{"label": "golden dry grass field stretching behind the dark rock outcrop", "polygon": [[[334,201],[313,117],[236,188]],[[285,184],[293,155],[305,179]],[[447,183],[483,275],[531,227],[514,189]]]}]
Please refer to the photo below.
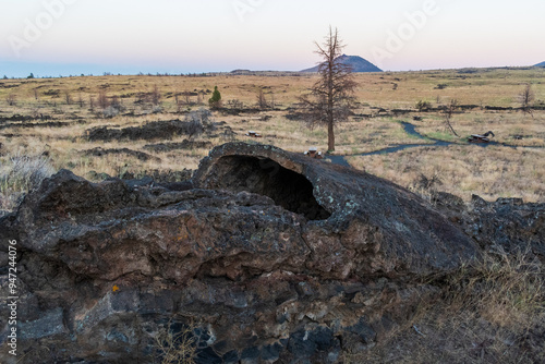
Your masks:
[{"label": "golden dry grass field stretching behind the dark rock outcrop", "polygon": [[[230,141],[272,144],[298,153],[310,146],[325,150],[325,129],[308,130],[290,117],[314,77],[262,73],[1,80],[2,208],[13,208],[19,192],[33,186],[32,179],[61,168],[92,180],[104,179],[104,173],[177,178],[174,171],[195,169],[210,147]],[[347,156],[353,167],[423,194],[427,192],[417,182],[424,177],[434,180],[433,189],[465,199],[479,194],[488,199],[545,201],[545,69],[371,73],[358,74],[356,81],[358,109],[336,132],[336,155]],[[526,84],[535,96],[532,114],[519,110],[519,95]],[[142,131],[122,138],[89,137],[96,128],[137,130],[185,120],[191,111],[208,107],[215,86],[225,110],[213,112],[211,126],[202,134]],[[257,107],[259,90],[269,107]],[[459,137],[447,133],[440,111],[451,99],[461,106],[451,121]],[[419,112],[420,100],[431,109]],[[408,134],[401,122],[412,123],[425,138]],[[264,137],[249,138],[245,134],[251,130]],[[469,135],[487,131],[494,132],[497,144],[483,148],[467,143]],[[431,138],[452,144],[361,156],[396,145],[434,144]],[[168,145],[157,148],[157,144]],[[40,173],[32,177],[36,166]],[[25,168],[29,174],[20,175]]]}]

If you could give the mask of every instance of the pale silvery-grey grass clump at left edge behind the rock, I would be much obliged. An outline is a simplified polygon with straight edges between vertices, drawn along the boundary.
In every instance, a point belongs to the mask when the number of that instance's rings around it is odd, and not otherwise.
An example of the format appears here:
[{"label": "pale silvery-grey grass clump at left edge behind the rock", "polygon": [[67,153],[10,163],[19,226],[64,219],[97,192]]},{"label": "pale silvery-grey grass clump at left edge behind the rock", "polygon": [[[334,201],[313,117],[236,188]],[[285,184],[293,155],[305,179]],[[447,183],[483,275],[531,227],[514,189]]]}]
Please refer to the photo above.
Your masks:
[{"label": "pale silvery-grey grass clump at left edge behind the rock", "polygon": [[22,196],[41,184],[55,173],[49,158],[14,155],[0,165],[0,209],[13,210]]}]

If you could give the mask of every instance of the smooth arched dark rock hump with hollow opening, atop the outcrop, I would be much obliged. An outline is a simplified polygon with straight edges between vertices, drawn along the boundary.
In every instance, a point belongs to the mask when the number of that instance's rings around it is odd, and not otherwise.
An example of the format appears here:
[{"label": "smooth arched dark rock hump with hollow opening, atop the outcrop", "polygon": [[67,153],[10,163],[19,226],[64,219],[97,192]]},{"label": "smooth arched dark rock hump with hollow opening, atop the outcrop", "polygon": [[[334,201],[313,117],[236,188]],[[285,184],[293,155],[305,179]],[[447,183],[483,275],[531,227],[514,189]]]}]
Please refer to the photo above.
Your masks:
[{"label": "smooth arched dark rock hump with hollow opening, atop the outcrop", "polygon": [[[269,196],[304,215],[306,229],[335,232],[336,254],[365,251],[368,271],[424,274],[451,269],[475,255],[474,242],[410,191],[351,168],[274,146],[230,143],[201,162],[195,186]],[[320,235],[322,234],[322,235]],[[372,253],[373,252],[373,253]],[[353,256],[344,256],[351,262]],[[350,265],[350,263],[347,263]]]}]

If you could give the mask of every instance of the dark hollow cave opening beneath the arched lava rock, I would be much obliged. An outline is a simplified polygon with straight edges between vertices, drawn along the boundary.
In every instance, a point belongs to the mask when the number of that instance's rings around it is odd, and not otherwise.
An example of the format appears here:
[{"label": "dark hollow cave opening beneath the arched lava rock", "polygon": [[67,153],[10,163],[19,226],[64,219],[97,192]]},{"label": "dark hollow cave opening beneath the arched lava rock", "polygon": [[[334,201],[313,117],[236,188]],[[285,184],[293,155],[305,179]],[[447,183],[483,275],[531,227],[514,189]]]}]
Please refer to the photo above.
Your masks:
[{"label": "dark hollow cave opening beneath the arched lava rock", "polygon": [[325,220],[331,216],[318,204],[313,185],[304,175],[269,158],[222,157],[216,165],[216,173],[218,185],[215,187],[268,196],[277,205],[308,220]]}]

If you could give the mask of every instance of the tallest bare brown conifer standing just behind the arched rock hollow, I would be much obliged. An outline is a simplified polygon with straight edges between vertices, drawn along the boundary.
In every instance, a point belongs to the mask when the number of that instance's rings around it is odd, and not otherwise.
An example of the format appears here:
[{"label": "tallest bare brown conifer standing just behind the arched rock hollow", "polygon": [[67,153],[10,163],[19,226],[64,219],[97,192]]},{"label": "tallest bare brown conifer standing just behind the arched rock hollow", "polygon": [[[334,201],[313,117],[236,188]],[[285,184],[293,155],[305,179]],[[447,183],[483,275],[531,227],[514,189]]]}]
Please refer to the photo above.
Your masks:
[{"label": "tallest bare brown conifer standing just behind the arched rock hollow", "polygon": [[318,65],[319,80],[311,88],[308,95],[302,96],[300,101],[305,109],[304,116],[311,126],[313,124],[327,125],[327,148],[335,150],[335,123],[347,120],[353,108],[354,90],[358,84],[354,81],[352,69],[342,63],[339,58],[344,45],[339,38],[337,28],[329,27],[329,35],[323,45],[315,43],[316,53],[320,56]]}]

